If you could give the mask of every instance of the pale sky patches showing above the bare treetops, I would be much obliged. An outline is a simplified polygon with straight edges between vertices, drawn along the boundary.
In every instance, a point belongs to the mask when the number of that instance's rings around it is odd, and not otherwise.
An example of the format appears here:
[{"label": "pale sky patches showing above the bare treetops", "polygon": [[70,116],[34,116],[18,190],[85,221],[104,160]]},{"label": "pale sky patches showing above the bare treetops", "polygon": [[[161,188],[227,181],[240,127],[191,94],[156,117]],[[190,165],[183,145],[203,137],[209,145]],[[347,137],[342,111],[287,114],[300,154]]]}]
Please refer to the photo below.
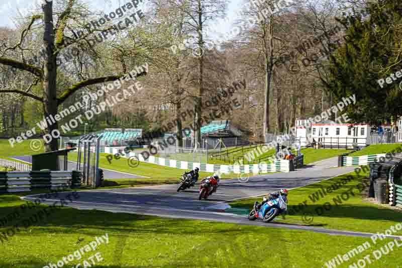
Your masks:
[{"label": "pale sky patches showing above the bare treetops", "polygon": [[[13,18],[19,16],[19,14],[25,15],[29,11],[33,10],[35,6],[39,6],[38,3],[42,3],[43,0],[0,0],[0,27],[16,28]],[[58,0],[53,0],[57,2]],[[244,0],[229,0],[227,14],[229,18],[234,18],[235,13],[241,11],[242,3]],[[124,5],[130,0],[84,0],[92,11],[103,11],[105,14],[109,14],[113,10],[116,10],[121,5]],[[219,31],[225,33],[232,29],[232,22],[219,23]]]}]

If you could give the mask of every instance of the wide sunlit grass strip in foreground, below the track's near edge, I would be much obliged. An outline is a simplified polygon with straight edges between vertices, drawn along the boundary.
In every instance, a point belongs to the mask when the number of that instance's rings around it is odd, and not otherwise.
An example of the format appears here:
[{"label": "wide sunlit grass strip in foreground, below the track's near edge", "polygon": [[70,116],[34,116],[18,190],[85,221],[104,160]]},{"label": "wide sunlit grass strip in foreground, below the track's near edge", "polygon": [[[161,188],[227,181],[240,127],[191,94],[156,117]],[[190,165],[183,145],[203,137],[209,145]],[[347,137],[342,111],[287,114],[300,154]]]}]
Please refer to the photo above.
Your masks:
[{"label": "wide sunlit grass strip in foreground, below the track's near edge", "polygon": [[[18,195],[0,195],[0,214],[8,215],[22,204]],[[21,218],[0,227],[0,232],[39,209],[28,210]],[[337,265],[348,267],[390,241],[374,244],[362,237],[72,208],[55,210],[32,226],[20,229],[0,247],[2,268],[42,268],[105,234],[109,243],[84,252],[80,260],[74,259],[65,266],[81,263],[83,267],[84,260],[91,263],[88,257],[100,252],[103,260],[93,267],[267,267],[274,261],[280,267],[315,268],[368,241],[370,248]],[[371,254],[369,267],[395,267],[402,260],[400,249],[394,247],[378,260]],[[269,262],[267,255],[261,254],[268,251]]]}]

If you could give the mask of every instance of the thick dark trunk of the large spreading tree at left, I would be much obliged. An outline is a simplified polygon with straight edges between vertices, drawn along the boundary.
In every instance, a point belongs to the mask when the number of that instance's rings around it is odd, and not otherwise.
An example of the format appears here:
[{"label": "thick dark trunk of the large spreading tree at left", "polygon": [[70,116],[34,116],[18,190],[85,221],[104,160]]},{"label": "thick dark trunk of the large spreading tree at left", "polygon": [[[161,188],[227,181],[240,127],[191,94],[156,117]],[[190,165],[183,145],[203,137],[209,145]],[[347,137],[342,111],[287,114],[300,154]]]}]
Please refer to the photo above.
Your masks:
[{"label": "thick dark trunk of the large spreading tree at left", "polygon": [[[54,53],[54,33],[53,33],[53,3],[46,2],[42,5],[45,21],[45,33],[43,37],[43,45],[46,47],[46,63],[44,65],[43,89],[44,96],[44,114],[45,117],[54,117],[57,114],[57,96],[56,96],[56,57]],[[57,121],[54,124],[49,124],[47,134],[54,134],[57,137]],[[58,138],[52,138],[51,141],[45,144],[45,151],[58,150]],[[56,159],[55,159],[56,160]]]}]

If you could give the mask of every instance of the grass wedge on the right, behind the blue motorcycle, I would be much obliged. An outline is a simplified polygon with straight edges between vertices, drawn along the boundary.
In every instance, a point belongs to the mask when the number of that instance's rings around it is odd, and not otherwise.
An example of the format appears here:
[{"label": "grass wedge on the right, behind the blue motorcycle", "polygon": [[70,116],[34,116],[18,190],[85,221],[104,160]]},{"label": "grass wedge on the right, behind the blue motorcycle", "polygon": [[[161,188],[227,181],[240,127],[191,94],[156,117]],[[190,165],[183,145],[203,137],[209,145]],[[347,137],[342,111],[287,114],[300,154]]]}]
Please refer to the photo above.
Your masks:
[{"label": "grass wedge on the right, behind the blue motorcycle", "polygon": [[[321,189],[328,189],[334,183],[341,183],[350,176],[349,182],[339,189],[328,193],[319,200],[314,199],[313,194]],[[289,191],[288,209],[289,214],[280,220],[286,223],[298,223],[313,226],[322,226],[329,229],[340,229],[360,232],[381,232],[384,227],[394,225],[401,221],[402,212],[388,209],[383,206],[367,202],[361,197],[362,180],[366,182],[368,171],[361,170],[358,176],[355,172],[344,174],[330,180],[315,183],[302,188]],[[346,182],[346,181],[344,181]],[[352,189],[352,194],[344,194]],[[342,194],[343,198],[342,198]],[[338,196],[341,198],[339,203]],[[314,200],[314,202],[313,202]],[[335,203],[337,200],[338,203]],[[255,201],[261,202],[261,198],[243,199],[229,203],[234,208],[246,208],[251,210]],[[300,205],[306,202],[306,206]],[[329,203],[326,210],[323,205]],[[327,203],[327,204],[328,204]],[[398,232],[402,235],[402,231]]]}]

